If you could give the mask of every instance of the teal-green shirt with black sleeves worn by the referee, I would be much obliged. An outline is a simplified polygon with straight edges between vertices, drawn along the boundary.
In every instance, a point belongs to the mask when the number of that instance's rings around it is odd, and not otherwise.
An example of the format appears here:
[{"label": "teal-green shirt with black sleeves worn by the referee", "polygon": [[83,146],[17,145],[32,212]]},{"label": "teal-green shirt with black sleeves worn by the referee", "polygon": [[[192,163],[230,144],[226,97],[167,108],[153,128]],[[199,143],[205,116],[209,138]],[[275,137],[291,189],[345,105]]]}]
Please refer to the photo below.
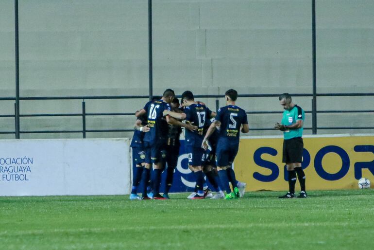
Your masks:
[{"label": "teal-green shirt with black sleeves worn by the referee", "polygon": [[[283,118],[282,118],[282,124],[283,125],[291,125],[295,124],[296,120],[303,120],[305,119],[305,113],[304,110],[295,105],[290,110],[285,110],[283,112]],[[292,139],[295,137],[302,137],[303,136],[303,128],[298,129],[287,129],[283,132],[283,137],[285,140]]]}]

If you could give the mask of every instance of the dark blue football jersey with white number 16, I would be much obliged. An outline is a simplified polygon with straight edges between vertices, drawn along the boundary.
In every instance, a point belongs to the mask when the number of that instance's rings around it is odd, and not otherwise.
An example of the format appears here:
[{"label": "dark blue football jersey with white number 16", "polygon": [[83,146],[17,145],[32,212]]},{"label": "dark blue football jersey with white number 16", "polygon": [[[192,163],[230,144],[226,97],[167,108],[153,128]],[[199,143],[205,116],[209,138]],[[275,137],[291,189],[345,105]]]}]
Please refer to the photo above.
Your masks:
[{"label": "dark blue football jersey with white number 16", "polygon": [[144,142],[165,143],[168,138],[168,123],[163,115],[164,110],[171,110],[170,105],[162,100],[150,101],[145,106],[150,131],[145,133]]}]

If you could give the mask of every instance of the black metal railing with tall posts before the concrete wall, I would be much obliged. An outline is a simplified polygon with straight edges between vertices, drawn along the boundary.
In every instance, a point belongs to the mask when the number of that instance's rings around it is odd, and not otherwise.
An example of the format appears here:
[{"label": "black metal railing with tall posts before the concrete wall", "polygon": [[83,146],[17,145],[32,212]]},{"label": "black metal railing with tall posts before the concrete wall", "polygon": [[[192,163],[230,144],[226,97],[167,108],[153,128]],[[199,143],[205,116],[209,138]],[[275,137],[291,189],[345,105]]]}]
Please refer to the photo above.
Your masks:
[{"label": "black metal railing with tall posts before the concrete wall", "polygon": [[[18,0],[14,0],[15,11],[15,74],[16,74],[16,94],[15,97],[2,97],[0,101],[15,101],[14,114],[3,114],[0,118],[13,117],[15,119],[15,131],[0,131],[0,134],[15,134],[16,139],[19,139],[20,134],[25,133],[82,133],[85,138],[86,132],[126,132],[132,131],[129,129],[86,129],[86,116],[129,116],[132,113],[86,113],[85,100],[88,99],[150,99],[153,95],[153,14],[152,14],[152,0],[148,0],[148,71],[149,71],[149,94],[147,96],[60,96],[60,97],[20,97],[19,95],[19,36],[18,36]],[[374,93],[317,93],[317,57],[316,57],[316,0],[311,0],[311,40],[312,46],[310,48],[312,54],[312,93],[307,94],[292,94],[293,96],[311,97],[311,110],[306,110],[306,113],[311,113],[312,127],[305,127],[311,129],[313,134],[317,133],[317,129],[373,129],[374,127],[317,127],[317,113],[373,113],[374,110],[318,110],[317,97],[336,97],[336,96],[374,96]],[[242,94],[242,98],[263,98],[263,97],[277,97],[279,94]],[[197,95],[197,98],[215,98],[216,109],[220,106],[219,98],[223,95]],[[58,113],[58,114],[20,114],[19,102],[22,100],[82,100],[81,113]],[[247,114],[276,114],[282,113],[280,111],[249,111]],[[20,131],[20,117],[53,117],[53,116],[81,116],[82,130],[35,130],[35,131]],[[273,128],[254,128],[253,130],[272,130]]]}]

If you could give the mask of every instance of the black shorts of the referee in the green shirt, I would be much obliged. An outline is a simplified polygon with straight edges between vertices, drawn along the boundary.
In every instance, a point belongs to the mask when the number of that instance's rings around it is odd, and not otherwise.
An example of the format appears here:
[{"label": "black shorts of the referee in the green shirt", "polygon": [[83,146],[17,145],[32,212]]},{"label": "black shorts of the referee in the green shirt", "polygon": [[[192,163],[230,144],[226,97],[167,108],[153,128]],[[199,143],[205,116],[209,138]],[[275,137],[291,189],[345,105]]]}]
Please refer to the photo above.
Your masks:
[{"label": "black shorts of the referee in the green shirt", "polygon": [[283,162],[301,163],[303,161],[303,138],[295,137],[283,141]]}]

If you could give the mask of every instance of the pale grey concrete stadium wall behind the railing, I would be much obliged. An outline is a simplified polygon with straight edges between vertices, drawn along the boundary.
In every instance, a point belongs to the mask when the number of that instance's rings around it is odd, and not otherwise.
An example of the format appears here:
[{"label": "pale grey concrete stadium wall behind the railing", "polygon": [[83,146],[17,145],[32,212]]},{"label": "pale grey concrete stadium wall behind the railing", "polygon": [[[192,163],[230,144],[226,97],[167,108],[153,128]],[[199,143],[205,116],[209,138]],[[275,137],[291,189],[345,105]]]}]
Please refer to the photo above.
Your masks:
[{"label": "pale grey concrete stadium wall behind the railing", "polygon": [[[0,2],[1,97],[15,96],[14,1]],[[20,95],[148,94],[147,0],[19,0]],[[374,92],[374,2],[317,1],[317,91]],[[311,93],[310,0],[153,0],[153,93]],[[311,98],[294,98],[311,110]],[[214,100],[203,100],[214,109]],[[88,100],[86,112],[133,112],[142,100]],[[223,99],[220,100],[224,105]],[[248,98],[251,111],[281,110],[277,98]],[[319,110],[372,109],[373,97],[321,97]],[[81,101],[21,101],[21,114],[80,113]],[[1,101],[1,114],[14,102]],[[280,115],[250,115],[264,128]],[[318,126],[371,126],[372,113],[319,114]],[[87,129],[130,128],[133,117],[87,117]],[[14,130],[1,118],[1,130]],[[311,115],[306,114],[306,127]],[[81,117],[21,118],[21,130],[79,130]],[[355,133],[338,130],[334,133]],[[359,130],[359,133],[374,132]],[[310,133],[310,130],[306,130]],[[319,133],[331,133],[320,130]],[[132,133],[88,133],[123,137]],[[276,131],[251,132],[273,135]],[[21,134],[79,138],[81,134]],[[0,135],[11,139],[14,135]]]}]

